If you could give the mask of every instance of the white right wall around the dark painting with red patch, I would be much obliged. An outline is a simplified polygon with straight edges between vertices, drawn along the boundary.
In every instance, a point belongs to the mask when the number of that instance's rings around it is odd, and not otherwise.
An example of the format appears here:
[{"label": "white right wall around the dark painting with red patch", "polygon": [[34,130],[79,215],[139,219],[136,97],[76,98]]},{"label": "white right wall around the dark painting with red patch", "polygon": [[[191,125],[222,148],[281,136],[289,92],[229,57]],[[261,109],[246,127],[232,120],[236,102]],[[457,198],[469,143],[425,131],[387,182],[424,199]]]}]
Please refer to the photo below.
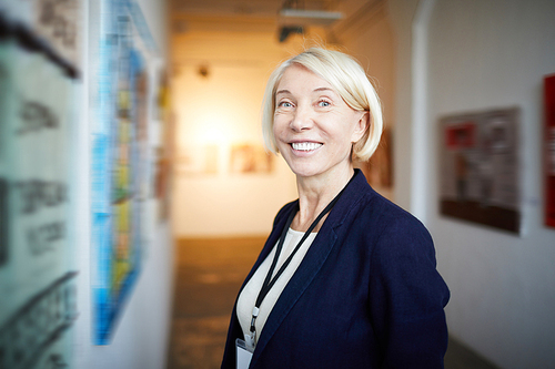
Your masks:
[{"label": "white right wall around the dark painting with red patch", "polygon": [[[406,116],[413,129],[402,140],[410,143],[407,152],[426,142],[412,168],[396,166],[412,170],[397,174],[411,181],[396,182],[396,189],[405,206],[417,204],[414,196],[425,205],[421,217],[434,236],[438,268],[452,291],[450,331],[502,368],[552,368],[555,229],[543,226],[541,147],[543,76],[555,71],[555,2],[437,0],[415,6],[390,1],[401,61],[397,79],[412,83],[397,90],[397,116]],[[417,102],[425,104],[423,110]],[[521,237],[437,212],[437,119],[512,105],[522,109]]]}]

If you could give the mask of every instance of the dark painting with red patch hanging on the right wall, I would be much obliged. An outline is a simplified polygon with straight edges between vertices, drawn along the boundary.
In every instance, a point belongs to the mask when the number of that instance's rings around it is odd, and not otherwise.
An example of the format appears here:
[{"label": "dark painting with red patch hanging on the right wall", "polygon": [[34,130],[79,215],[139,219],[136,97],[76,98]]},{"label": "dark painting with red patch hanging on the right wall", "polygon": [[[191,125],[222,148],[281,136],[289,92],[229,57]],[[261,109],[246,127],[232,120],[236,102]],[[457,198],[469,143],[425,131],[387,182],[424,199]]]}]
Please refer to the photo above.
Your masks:
[{"label": "dark painting with red patch hanging on the right wall", "polygon": [[440,213],[521,232],[518,107],[440,120]]}]

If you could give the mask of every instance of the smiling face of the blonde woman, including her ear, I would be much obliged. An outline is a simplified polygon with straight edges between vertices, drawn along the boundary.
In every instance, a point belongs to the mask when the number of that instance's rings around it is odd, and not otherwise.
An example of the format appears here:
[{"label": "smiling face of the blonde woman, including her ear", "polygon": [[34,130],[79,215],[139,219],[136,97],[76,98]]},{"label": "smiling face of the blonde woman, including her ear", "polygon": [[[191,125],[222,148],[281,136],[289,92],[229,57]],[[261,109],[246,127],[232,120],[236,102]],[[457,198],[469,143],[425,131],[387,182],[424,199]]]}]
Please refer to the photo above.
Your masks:
[{"label": "smiling face of the blonde woman, including her ear", "polygon": [[366,112],[351,109],[329,82],[297,64],[283,73],[275,106],[273,133],[293,173],[351,174],[351,147],[364,134]]}]

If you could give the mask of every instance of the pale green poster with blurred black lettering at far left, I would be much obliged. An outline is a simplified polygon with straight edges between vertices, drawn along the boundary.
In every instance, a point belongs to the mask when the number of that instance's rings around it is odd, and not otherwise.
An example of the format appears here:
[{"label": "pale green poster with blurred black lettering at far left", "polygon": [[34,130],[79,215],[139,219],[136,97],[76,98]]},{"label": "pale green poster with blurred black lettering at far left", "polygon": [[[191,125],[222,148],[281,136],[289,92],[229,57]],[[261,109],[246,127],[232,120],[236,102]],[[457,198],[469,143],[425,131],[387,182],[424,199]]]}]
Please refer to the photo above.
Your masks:
[{"label": "pale green poster with blurred black lettering at far left", "polygon": [[13,9],[0,13],[0,368],[72,359],[70,158],[79,86],[70,64]]}]

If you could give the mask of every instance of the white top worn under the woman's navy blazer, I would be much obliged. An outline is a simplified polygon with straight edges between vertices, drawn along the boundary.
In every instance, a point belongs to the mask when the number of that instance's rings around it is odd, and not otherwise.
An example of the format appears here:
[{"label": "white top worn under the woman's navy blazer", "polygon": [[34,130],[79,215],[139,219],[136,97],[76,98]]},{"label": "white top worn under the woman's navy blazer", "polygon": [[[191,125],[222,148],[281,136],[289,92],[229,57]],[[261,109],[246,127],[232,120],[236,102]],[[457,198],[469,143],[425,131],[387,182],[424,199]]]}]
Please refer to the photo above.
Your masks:
[{"label": "white top worn under the woman's navy blazer", "polygon": [[[264,328],[264,324],[266,322],[266,319],[270,316],[275,301],[278,301],[281,293],[287,285],[299,265],[301,265],[304,255],[309,250],[309,247],[312,245],[314,238],[316,238],[316,235],[317,233],[311,233],[309,235],[309,237],[301,245],[301,248],[299,248],[299,250],[296,252],[295,256],[293,256],[293,259],[291,259],[291,263],[287,265],[285,270],[283,270],[283,274],[275,281],[273,287],[270,289],[266,297],[260,305],[259,317],[256,318],[256,321],[254,324],[254,326],[256,327],[256,340],[260,337],[262,329]],[[287,257],[291,255],[303,236],[304,232],[293,230],[289,228],[287,235],[285,236],[285,240],[283,243],[283,249],[281,252],[280,259],[278,260],[278,265],[275,266],[273,273],[274,275],[278,273],[278,270],[280,270],[283,263],[287,259]],[[276,246],[278,244],[274,245],[268,257],[264,259],[264,262],[262,262],[259,268],[254,271],[252,278],[244,286],[241,295],[239,295],[236,311],[239,322],[241,324],[243,335],[245,336],[245,341],[248,341],[246,336],[250,335],[252,308],[256,303],[256,297],[259,297],[262,284],[264,283],[268,271],[270,270],[270,266],[272,265],[272,260],[274,259]]]}]

